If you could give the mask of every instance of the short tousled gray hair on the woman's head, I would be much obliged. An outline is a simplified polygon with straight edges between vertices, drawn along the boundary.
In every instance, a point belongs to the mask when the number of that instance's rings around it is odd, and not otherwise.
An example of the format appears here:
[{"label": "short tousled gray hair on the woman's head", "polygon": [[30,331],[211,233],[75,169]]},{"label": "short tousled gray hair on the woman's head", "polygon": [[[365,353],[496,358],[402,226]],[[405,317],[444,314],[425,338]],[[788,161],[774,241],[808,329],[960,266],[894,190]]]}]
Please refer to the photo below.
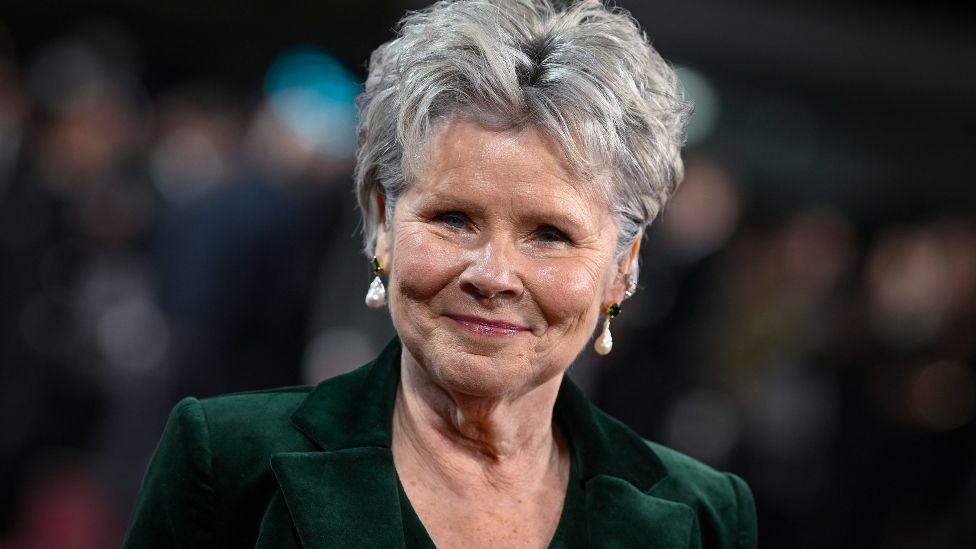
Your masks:
[{"label": "short tousled gray hair on the woman's head", "polygon": [[[605,181],[622,257],[683,176],[691,106],[626,11],[599,0],[444,0],[408,13],[369,61],[356,193],[366,253],[383,195],[387,225],[433,129],[450,119],[535,126],[576,175]],[[636,262],[634,265],[636,272]]]}]

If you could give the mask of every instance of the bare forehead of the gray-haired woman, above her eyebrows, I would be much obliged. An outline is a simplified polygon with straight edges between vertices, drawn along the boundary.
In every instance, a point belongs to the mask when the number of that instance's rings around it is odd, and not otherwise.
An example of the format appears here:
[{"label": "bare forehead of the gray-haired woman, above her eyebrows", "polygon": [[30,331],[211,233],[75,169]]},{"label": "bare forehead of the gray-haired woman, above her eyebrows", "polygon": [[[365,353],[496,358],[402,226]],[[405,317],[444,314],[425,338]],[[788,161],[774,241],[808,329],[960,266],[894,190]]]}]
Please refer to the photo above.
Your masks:
[{"label": "bare forehead of the gray-haired woman, above her eyebrows", "polygon": [[473,121],[445,122],[410,186],[537,202],[555,198],[594,214],[608,212],[603,184],[577,176],[558,143],[533,126],[493,130]]}]

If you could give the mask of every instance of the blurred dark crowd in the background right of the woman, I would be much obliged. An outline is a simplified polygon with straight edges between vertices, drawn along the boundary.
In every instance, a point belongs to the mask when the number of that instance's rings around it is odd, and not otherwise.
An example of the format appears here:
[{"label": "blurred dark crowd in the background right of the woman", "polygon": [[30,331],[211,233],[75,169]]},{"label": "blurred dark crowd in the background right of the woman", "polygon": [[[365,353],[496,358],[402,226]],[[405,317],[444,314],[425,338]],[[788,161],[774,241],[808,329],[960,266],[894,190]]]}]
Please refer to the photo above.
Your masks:
[{"label": "blurred dark crowd in the background right of the woman", "polygon": [[764,546],[976,546],[974,220],[750,217],[734,181],[692,157],[597,400],[749,479]]}]

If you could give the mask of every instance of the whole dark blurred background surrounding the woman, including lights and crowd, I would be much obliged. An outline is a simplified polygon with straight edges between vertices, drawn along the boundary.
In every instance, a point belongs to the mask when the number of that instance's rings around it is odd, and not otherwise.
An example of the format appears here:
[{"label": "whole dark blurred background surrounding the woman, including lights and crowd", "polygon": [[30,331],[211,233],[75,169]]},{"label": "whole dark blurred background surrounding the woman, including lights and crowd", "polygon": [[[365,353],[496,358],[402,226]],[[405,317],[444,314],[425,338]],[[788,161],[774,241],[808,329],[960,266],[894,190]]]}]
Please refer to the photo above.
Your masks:
[{"label": "whole dark blurred background surrounding the woman, including lights and crowd", "polygon": [[[424,4],[0,7],[0,548],[117,546],[179,398],[385,344],[352,101]],[[976,547],[976,20],[619,5],[697,110],[614,351],[570,375],[745,477],[764,547]]]}]

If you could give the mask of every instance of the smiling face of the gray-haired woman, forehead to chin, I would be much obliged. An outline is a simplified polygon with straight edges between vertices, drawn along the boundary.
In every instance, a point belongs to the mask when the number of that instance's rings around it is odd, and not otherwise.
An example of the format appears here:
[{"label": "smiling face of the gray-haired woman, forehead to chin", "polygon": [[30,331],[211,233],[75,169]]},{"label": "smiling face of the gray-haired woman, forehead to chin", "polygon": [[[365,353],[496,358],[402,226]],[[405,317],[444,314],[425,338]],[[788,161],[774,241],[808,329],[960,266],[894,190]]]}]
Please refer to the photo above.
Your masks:
[{"label": "smiling face of the gray-haired woman, forehead to chin", "polygon": [[533,128],[455,121],[432,145],[377,240],[404,358],[462,394],[529,391],[623,297],[629,258],[615,261],[600,184],[575,179]]}]

